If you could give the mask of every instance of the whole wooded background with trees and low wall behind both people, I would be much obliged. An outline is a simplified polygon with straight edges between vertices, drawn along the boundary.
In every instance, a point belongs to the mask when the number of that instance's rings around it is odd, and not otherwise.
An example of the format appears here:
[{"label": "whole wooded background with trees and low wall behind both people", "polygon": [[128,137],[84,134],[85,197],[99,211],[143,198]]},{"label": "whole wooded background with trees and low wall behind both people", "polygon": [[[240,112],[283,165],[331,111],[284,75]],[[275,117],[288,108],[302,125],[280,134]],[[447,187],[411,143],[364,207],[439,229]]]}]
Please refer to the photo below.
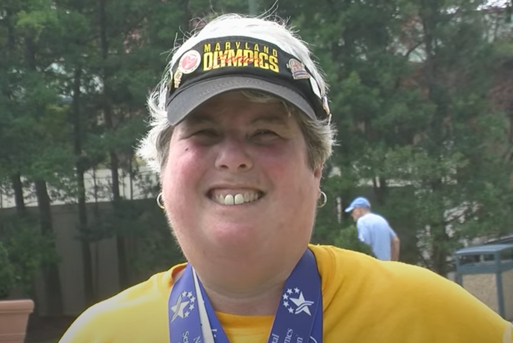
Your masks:
[{"label": "whole wooded background with trees and low wall behind both people", "polygon": [[330,84],[312,242],[368,253],[355,196],[444,277],[456,250],[513,242],[509,1],[1,0],[0,297],[34,299],[29,341],[183,261],[134,146],[171,49],[229,12],[293,25]]}]

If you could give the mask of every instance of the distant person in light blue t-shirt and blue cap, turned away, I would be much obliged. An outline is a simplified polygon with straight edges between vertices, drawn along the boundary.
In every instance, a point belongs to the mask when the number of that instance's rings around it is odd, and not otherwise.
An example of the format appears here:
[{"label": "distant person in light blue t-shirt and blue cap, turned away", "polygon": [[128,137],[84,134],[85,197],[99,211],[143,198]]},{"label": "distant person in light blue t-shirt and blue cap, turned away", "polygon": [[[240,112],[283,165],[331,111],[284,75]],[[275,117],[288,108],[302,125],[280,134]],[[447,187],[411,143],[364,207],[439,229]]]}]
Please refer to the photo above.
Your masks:
[{"label": "distant person in light blue t-shirt and blue cap, turned away", "polygon": [[398,261],[400,240],[388,221],[370,211],[370,202],[358,197],[345,209],[351,213],[358,227],[358,238],[370,245],[376,258],[383,261]]}]

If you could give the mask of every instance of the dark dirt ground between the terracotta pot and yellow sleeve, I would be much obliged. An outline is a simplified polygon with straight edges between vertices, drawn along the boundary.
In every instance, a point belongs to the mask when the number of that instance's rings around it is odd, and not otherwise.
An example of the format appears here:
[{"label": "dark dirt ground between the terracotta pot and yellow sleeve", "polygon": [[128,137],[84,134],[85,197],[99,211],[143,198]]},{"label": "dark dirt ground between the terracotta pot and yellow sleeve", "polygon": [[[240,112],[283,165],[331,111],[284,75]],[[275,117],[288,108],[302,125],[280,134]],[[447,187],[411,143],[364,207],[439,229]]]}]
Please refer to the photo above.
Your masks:
[{"label": "dark dirt ground between the terracotta pot and yellow sleeve", "polygon": [[61,338],[64,331],[71,325],[74,317],[40,317],[31,314],[27,325],[27,343],[37,343],[57,340]]}]

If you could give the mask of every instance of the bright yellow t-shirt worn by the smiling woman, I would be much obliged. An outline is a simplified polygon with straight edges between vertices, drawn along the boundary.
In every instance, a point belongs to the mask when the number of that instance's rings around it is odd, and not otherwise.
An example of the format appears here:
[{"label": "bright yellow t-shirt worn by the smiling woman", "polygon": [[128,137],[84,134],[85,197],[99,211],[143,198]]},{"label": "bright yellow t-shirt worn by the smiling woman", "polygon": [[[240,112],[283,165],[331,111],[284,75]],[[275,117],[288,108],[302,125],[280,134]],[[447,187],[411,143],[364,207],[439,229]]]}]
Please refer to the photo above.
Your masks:
[{"label": "bright yellow t-shirt worn by the smiling woman", "polygon": [[[504,343],[510,323],[452,281],[333,246],[310,248],[322,278],[324,343]],[[168,298],[181,268],[95,304],[59,342],[169,343]],[[266,343],[273,320],[218,317],[231,343]]]}]

